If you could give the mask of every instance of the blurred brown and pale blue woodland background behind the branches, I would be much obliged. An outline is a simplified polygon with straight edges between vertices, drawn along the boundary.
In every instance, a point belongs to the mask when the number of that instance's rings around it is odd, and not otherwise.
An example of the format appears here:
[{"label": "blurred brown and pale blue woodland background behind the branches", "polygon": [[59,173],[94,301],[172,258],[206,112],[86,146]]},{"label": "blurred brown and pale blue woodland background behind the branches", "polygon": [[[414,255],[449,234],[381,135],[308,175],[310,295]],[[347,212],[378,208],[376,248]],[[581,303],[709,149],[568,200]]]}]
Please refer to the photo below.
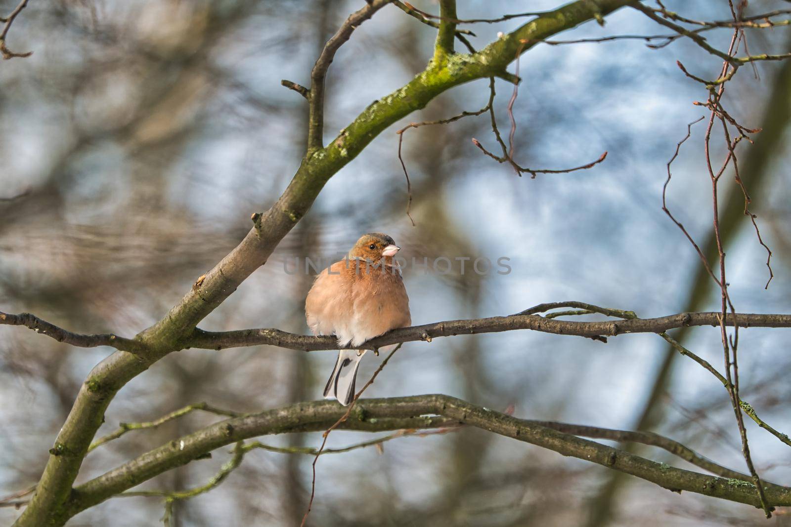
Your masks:
[{"label": "blurred brown and pale blue woodland background behind the branches", "polygon": [[[730,17],[724,2],[664,4],[694,20]],[[0,14],[18,5],[0,2]],[[286,188],[308,147],[308,104],[280,80],[309,86],[324,43],[363,6],[361,0],[30,2],[0,38],[10,51],[33,51],[0,63],[2,311],[30,311],[75,332],[125,336],[160,320],[244,238],[250,214],[272,205]],[[430,0],[414,6],[439,13]],[[524,9],[558,6],[546,0]],[[787,7],[750,2],[744,13]],[[458,17],[497,18],[513,10],[513,2],[461,2]],[[774,28],[748,28],[750,51],[743,47],[739,55],[791,51],[788,18],[774,17],[783,22]],[[475,32],[467,38],[480,49],[525,20],[459,27]],[[562,38],[672,34],[635,9],[615,11],[606,21],[604,27],[581,25]],[[707,32],[707,42],[727,49],[731,34],[728,28]],[[371,101],[421,71],[436,36],[437,29],[395,6],[362,24],[327,76],[323,144]],[[460,43],[456,50],[465,51]],[[659,49],[643,40],[532,47],[521,58],[513,103],[517,162],[572,167],[604,151],[607,160],[589,171],[518,178],[508,163],[495,163],[470,141],[495,145],[487,114],[407,130],[403,160],[411,177],[413,227],[404,213],[406,183],[395,131],[411,121],[478,110],[488,99],[488,80],[442,93],[384,130],[331,179],[267,265],[202,328],[305,333],[312,277],[288,274],[284,263],[343,253],[371,231],[388,232],[407,258],[420,261],[510,258],[507,275],[460,273],[458,266],[448,274],[406,269],[415,324],[509,314],[564,299],[645,317],[718,310],[719,288],[661,209],[676,143],[688,122],[706,115],[690,104],[705,100],[705,88],[686,77],[676,59],[710,79],[721,67],[690,39]],[[764,290],[766,254],[742,217],[743,197],[727,173],[721,233],[729,291],[740,312],[789,311],[789,64],[755,62],[755,72],[743,66],[726,92],[731,115],[763,128],[755,145],[740,146],[740,161],[751,211],[774,251],[775,277]],[[494,112],[507,141],[513,86],[499,78],[496,86]],[[676,160],[668,200],[715,262],[703,132],[704,125],[692,129]],[[727,152],[725,145],[713,148],[713,156]],[[781,431],[791,429],[786,332],[749,329],[740,343],[742,394]],[[75,348],[7,327],[0,327],[0,335],[0,487],[11,495],[39,480],[74,397],[108,348]],[[721,367],[717,329],[691,329],[676,338]],[[650,430],[744,471],[728,394],[708,372],[676,357],[650,334],[606,345],[536,332],[407,343],[366,396],[448,393],[495,410],[510,406],[514,416],[528,419]],[[119,422],[154,420],[199,401],[256,412],[312,400],[333,361],[332,353],[274,346],[172,353],[119,391],[99,435]],[[378,363],[363,362],[361,381]],[[215,420],[192,412],[125,435],[86,457],[75,484]],[[761,476],[791,484],[788,446],[749,420],[746,426]],[[327,446],[366,438],[335,431]],[[316,432],[278,436],[271,444],[320,441]],[[205,484],[227,461],[224,450],[141,488],[179,491]],[[657,450],[636,451],[675,460]],[[176,502],[169,525],[299,525],[311,492],[311,461],[253,450],[217,488]],[[621,472],[475,429],[321,457],[316,470],[308,525],[766,522],[750,506],[664,492]],[[6,505],[19,500],[24,497]],[[0,508],[0,523],[20,514],[14,506]],[[94,506],[69,525],[152,525],[161,515],[161,499],[130,497]],[[772,521],[785,525],[786,518]]]}]

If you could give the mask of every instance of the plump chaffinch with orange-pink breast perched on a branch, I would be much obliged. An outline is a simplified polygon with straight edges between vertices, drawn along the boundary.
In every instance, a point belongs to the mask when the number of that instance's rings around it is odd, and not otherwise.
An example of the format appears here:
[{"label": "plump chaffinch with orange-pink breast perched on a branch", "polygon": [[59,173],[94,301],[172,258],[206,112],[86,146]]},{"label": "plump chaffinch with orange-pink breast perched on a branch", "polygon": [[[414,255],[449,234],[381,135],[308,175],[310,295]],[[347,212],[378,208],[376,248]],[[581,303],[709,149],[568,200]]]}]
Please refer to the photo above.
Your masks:
[{"label": "plump chaffinch with orange-pink breast perched on a branch", "polygon": [[[313,334],[335,334],[339,345],[359,346],[390,329],[411,326],[407,289],[393,260],[399,250],[390,236],[372,232],[358,239],[346,258],[319,273],[305,299]],[[325,399],[350,404],[365,351],[340,350]]]}]

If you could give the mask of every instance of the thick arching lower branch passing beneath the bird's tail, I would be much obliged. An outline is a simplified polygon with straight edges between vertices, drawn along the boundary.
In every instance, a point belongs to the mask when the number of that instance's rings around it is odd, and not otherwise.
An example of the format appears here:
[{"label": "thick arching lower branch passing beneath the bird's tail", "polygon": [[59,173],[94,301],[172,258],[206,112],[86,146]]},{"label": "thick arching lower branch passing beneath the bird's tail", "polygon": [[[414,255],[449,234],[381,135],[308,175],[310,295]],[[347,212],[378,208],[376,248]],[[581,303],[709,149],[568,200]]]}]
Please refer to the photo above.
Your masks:
[{"label": "thick arching lower branch passing beneath the bird's tail", "polygon": [[[76,487],[67,503],[66,514],[71,517],[153,476],[185,465],[211,450],[233,442],[259,435],[324,430],[328,423],[335,422],[344,411],[345,408],[334,401],[314,401],[215,423],[194,434],[168,442]],[[359,401],[358,408],[342,427],[349,430],[384,431],[399,428],[433,428],[448,426],[451,423],[478,427],[554,450],[565,456],[592,461],[598,465],[638,476],[672,491],[691,491],[734,502],[758,505],[755,489],[749,483],[749,476],[708,461],[672,439],[653,434],[574,424],[521,420],[446,395]],[[577,435],[624,439],[660,446],[691,463],[724,474],[729,479],[676,469],[623,450],[581,439]],[[766,483],[766,496],[775,506],[791,505],[791,488]]]}]

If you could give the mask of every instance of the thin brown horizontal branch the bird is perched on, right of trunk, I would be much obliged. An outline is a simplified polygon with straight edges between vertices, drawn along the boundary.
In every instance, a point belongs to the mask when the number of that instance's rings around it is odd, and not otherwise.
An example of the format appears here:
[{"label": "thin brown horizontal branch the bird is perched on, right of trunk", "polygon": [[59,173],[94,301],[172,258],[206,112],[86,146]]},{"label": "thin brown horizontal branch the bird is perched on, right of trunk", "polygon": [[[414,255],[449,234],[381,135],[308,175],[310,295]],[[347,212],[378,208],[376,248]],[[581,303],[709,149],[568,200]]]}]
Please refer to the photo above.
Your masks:
[{"label": "thin brown horizontal branch the bird is perched on, right of trunk", "polygon": [[[362,345],[366,349],[376,349],[388,344],[411,341],[430,341],[436,337],[472,335],[476,333],[499,333],[514,329],[532,329],[556,335],[576,335],[577,337],[615,337],[623,333],[664,333],[668,329],[686,326],[719,326],[720,313],[679,313],[660,318],[632,318],[630,320],[610,320],[604,322],[579,322],[545,318],[536,314],[513,314],[508,317],[471,318],[434,322],[423,326],[393,329],[381,337]],[[791,314],[736,314],[727,315],[725,324],[733,326],[738,322],[740,328],[791,327]],[[287,333],[280,329],[239,329],[237,331],[203,331],[195,329],[192,337],[184,341],[188,348],[222,349],[240,346],[267,344],[279,348],[298,349],[312,352],[322,349],[339,349],[335,337],[310,337]],[[346,346],[348,348],[349,346]]]}]

